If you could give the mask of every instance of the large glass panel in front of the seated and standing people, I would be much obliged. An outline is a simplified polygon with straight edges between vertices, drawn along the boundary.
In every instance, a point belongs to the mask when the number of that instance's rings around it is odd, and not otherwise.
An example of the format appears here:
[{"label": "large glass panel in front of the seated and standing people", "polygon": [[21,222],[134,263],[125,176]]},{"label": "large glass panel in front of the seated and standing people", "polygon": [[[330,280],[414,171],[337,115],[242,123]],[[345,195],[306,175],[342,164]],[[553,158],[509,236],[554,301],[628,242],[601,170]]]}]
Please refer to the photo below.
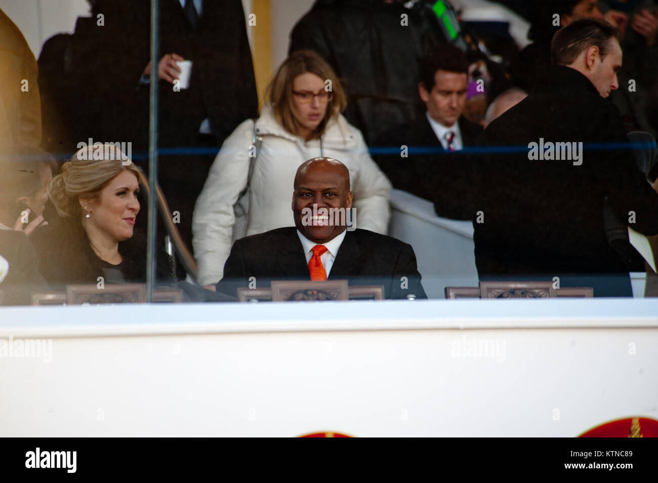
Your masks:
[{"label": "large glass panel in front of the seated and standing people", "polygon": [[658,13],[501,3],[1,2],[1,303],[655,296]]}]

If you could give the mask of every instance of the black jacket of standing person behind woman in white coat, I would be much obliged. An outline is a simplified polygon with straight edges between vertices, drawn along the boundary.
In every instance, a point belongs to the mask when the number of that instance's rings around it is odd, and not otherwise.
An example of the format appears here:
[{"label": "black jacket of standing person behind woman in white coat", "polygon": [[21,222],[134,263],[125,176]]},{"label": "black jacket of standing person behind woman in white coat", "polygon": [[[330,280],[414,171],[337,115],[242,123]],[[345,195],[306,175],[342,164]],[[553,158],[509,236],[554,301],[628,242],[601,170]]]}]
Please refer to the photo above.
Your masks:
[{"label": "black jacket of standing person behind woman in white coat", "polygon": [[311,49],[332,66],[347,93],[345,118],[371,145],[422,112],[418,61],[443,41],[436,14],[422,4],[318,0],[290,33],[289,52]]}]

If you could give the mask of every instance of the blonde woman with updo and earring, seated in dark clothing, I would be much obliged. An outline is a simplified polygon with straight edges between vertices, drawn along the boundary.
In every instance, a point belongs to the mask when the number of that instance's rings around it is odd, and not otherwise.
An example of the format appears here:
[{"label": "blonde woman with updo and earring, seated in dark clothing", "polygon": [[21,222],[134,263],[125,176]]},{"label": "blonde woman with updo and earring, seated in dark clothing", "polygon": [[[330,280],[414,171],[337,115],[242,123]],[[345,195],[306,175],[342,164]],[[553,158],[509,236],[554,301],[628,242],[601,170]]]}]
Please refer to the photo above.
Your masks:
[{"label": "blonde woman with updo and earring, seated in dark clothing", "polygon": [[[109,148],[109,149],[107,149]],[[39,270],[51,287],[145,281],[144,237],[134,237],[138,223],[139,168],[126,164],[119,150],[106,145],[103,159],[78,156],[64,163],[48,186],[61,219],[50,223],[36,242]],[[85,159],[80,159],[85,158]],[[159,259],[159,279],[170,280],[166,254]]]}]

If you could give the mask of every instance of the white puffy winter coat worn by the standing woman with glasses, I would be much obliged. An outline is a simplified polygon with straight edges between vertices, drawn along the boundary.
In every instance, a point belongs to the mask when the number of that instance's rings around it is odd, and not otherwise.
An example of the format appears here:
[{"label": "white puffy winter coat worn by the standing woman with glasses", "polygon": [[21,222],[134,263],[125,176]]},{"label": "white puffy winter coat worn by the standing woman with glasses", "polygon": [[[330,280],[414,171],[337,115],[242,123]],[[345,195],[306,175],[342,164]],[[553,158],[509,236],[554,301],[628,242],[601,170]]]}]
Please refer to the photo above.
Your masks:
[{"label": "white puffy winter coat worn by the standing woman with glasses", "polygon": [[[322,150],[320,140],[304,141],[286,131],[276,122],[270,106],[263,108],[255,127],[263,143],[251,176],[246,235],[295,225],[291,210],[295,172],[300,164],[316,156],[330,156],[347,166],[356,227],[386,234],[391,184],[370,158],[361,131],[342,115],[328,122]],[[253,120],[246,120],[226,138],[197,199],[192,244],[201,285],[222,278],[232,246],[233,207],[247,186],[253,131]]]}]

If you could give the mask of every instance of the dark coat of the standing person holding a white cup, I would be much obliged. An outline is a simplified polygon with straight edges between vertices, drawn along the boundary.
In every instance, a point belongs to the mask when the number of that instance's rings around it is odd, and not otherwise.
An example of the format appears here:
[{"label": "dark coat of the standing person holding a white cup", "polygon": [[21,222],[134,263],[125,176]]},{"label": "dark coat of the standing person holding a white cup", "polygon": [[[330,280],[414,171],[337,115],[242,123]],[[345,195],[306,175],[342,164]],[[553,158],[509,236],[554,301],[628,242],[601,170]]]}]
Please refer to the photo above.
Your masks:
[{"label": "dark coat of the standing person holding a white cup", "polygon": [[[79,18],[76,32],[59,41],[65,45],[49,45],[39,57],[39,70],[50,73],[39,76],[39,83],[55,92],[49,100],[63,103],[60,122],[76,130],[70,139],[52,139],[53,147],[59,141],[94,137],[101,142],[132,141],[134,150],[147,148],[149,87],[139,79],[151,60],[150,4],[97,0],[91,18]],[[98,25],[100,14],[103,26]],[[159,58],[177,53],[193,62],[190,89],[174,92],[172,84],[160,81],[159,145],[194,146],[201,122],[209,118],[220,147],[240,122],[258,114],[242,4],[204,1],[194,30],[178,0],[161,0],[159,20]],[[157,79],[155,66],[151,73]],[[62,89],[66,99],[57,99]],[[64,149],[72,152],[76,145]]]}]

